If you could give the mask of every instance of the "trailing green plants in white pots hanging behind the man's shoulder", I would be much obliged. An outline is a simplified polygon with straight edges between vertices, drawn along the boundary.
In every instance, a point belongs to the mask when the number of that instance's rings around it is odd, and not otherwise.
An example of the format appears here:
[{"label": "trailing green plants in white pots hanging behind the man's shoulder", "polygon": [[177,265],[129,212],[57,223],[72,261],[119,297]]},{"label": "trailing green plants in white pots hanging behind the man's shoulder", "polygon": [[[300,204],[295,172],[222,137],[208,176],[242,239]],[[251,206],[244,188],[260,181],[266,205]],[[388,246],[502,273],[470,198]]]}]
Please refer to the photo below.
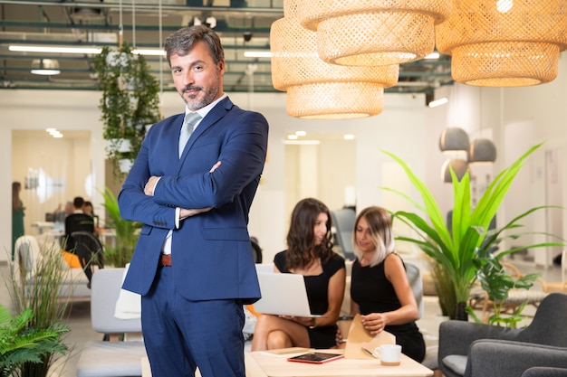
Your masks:
[{"label": "trailing green plants in white pots hanging behind the man's shoulder", "polygon": [[99,108],[102,136],[108,140],[107,156],[114,176],[123,178],[138,155],[147,125],[161,118],[159,81],[151,74],[148,61],[132,53],[128,43],[118,51],[102,48],[93,61],[102,90]]}]

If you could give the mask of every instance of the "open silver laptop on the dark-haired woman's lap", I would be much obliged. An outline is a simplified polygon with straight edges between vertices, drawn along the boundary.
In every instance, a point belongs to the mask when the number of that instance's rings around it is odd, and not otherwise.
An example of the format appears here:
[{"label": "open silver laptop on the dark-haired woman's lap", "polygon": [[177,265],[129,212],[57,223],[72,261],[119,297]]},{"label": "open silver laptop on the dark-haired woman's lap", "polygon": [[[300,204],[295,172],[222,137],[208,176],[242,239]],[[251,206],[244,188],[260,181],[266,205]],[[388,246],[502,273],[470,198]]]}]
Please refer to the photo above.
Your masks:
[{"label": "open silver laptop on the dark-haired woman's lap", "polygon": [[255,312],[317,317],[309,309],[303,275],[258,271],[258,281],[262,298],[255,302]]}]

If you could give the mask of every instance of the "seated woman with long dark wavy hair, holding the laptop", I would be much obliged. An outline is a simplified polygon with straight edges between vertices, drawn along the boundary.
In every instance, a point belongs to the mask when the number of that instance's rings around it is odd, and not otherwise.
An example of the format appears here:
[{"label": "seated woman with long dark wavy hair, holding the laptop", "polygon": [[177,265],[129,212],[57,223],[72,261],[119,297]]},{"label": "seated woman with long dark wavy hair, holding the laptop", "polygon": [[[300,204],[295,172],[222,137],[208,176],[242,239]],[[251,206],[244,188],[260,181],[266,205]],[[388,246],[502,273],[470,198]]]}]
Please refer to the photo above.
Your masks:
[{"label": "seated woman with long dark wavy hair, holding the laptop", "polygon": [[346,270],[332,250],[331,212],[317,199],[295,205],[287,233],[287,250],[274,257],[274,272],[301,274],[309,306],[321,317],[262,315],[255,325],[252,350],[287,347],[331,348],[335,345]]}]

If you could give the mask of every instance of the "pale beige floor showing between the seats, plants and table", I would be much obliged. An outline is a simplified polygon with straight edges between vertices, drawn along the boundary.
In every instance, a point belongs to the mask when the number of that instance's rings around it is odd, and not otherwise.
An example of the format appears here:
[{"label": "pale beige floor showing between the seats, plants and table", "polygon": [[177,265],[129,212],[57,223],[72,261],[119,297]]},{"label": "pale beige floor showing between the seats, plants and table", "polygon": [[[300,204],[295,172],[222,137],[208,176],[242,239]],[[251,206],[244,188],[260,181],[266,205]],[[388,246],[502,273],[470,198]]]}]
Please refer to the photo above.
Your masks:
[{"label": "pale beige floor showing between the seats, plants and table", "polygon": [[[533,263],[513,260],[514,264],[523,272],[542,272],[542,278],[548,282],[561,280],[561,269],[553,266],[550,269],[534,268]],[[0,276],[6,278],[9,276],[9,268],[6,264],[0,264]],[[1,284],[1,283],[0,283]],[[0,289],[0,304],[10,306],[10,297],[6,287]],[[435,355],[437,345],[437,329],[441,317],[441,311],[438,306],[437,297],[424,297],[424,316],[418,320],[418,326],[422,330],[426,343],[428,344],[428,355]],[[526,308],[529,313],[530,308]],[[72,304],[72,310],[67,323],[71,328],[71,332],[66,336],[66,342],[72,347],[69,358],[65,358],[56,363],[53,368],[52,376],[55,377],[75,377],[75,365],[79,360],[82,346],[90,340],[100,340],[101,335],[94,332],[91,328],[90,319],[91,305],[90,302],[76,302]]]}]

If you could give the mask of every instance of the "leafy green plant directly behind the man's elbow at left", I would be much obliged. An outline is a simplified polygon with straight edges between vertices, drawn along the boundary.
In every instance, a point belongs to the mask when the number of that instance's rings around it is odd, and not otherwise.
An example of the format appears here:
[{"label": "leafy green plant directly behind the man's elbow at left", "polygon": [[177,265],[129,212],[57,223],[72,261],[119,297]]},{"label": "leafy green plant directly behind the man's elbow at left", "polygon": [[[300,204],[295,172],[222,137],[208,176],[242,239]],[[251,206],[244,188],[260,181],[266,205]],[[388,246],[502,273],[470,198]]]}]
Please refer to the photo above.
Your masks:
[{"label": "leafy green plant directly behind the man's elbow at left", "polygon": [[130,263],[130,259],[132,259],[141,223],[122,219],[118,200],[108,187],[105,188],[102,197],[104,198],[103,205],[106,209],[106,214],[111,221],[111,227],[116,231],[116,247],[106,248],[104,260],[107,264],[111,264],[116,268],[122,268],[127,263]]}]

